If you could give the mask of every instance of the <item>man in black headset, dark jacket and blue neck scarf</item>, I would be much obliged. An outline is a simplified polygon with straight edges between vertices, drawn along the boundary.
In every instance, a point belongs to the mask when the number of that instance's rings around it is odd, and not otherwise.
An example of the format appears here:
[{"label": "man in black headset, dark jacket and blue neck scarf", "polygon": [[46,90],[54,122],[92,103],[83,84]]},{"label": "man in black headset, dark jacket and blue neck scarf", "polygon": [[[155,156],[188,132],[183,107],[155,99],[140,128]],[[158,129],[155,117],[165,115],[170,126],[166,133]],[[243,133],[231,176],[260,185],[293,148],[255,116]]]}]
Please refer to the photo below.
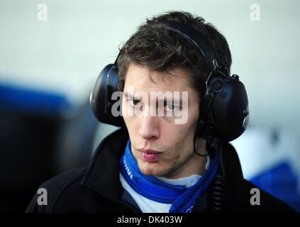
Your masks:
[{"label": "man in black headset, dark jacket and blue neck scarf", "polygon": [[[210,62],[212,50],[218,50],[218,56]],[[123,45],[104,77],[109,83],[118,67],[123,128],[101,142],[89,167],[43,183],[40,188],[47,190],[48,204],[39,205],[36,194],[27,211],[293,211],[243,179],[238,155],[227,143],[243,131],[231,136],[231,127],[213,128],[212,116],[224,116],[226,109],[209,112],[213,105],[209,100],[216,103],[217,93],[225,90],[222,83],[229,77],[230,65],[226,39],[203,18],[174,11],[147,20]],[[116,111],[117,103],[108,98],[111,87],[106,85],[101,95],[98,87],[102,86],[95,86],[91,104],[96,96],[101,100],[105,96],[100,108],[105,111],[93,110],[107,123],[103,118]],[[244,99],[248,104],[247,96]],[[243,113],[245,130],[248,108]],[[253,189],[258,193],[255,199]]]}]

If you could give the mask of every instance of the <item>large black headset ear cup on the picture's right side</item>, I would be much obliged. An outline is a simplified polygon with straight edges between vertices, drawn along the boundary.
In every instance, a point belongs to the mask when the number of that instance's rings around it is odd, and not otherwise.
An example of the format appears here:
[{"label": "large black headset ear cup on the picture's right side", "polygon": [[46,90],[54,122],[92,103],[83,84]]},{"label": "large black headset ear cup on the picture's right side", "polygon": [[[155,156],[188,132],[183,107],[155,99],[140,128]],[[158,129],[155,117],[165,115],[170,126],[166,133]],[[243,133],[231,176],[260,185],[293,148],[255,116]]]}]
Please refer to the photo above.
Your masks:
[{"label": "large black headset ear cup on the picture's right side", "polygon": [[[206,113],[210,99],[211,112]],[[224,79],[213,77],[209,82],[209,94],[204,95],[200,104],[196,135],[201,138],[211,135],[228,142],[245,131],[248,121],[248,96],[238,76]]]}]

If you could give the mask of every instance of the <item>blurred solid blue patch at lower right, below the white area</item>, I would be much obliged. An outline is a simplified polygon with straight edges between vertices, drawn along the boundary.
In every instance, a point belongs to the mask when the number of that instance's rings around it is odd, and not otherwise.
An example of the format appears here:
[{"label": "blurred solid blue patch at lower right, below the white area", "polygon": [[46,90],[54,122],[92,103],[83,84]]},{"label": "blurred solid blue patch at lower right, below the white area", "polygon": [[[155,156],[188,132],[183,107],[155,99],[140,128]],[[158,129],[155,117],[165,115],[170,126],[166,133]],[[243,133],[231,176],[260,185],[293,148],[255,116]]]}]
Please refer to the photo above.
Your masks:
[{"label": "blurred solid blue patch at lower right, below the white area", "polygon": [[284,161],[253,177],[250,182],[300,212],[300,194],[297,192],[298,179],[299,177],[292,170],[289,162]]}]

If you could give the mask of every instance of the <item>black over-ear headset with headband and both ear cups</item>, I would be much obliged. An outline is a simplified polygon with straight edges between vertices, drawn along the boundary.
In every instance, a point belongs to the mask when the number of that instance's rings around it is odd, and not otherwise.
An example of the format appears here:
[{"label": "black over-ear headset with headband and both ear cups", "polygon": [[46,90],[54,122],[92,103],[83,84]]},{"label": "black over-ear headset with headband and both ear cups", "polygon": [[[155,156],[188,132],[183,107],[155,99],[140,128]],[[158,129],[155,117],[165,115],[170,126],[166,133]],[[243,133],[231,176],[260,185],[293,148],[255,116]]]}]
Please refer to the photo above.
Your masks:
[{"label": "black over-ear headset with headband and both ear cups", "polygon": [[[249,122],[248,96],[238,75],[230,77],[227,59],[221,50],[216,51],[205,35],[179,21],[159,21],[162,26],[182,34],[194,43],[203,55],[211,71],[206,79],[206,91],[201,100],[196,135],[230,141],[238,138]],[[113,92],[118,91],[118,67],[116,61],[100,72],[90,96],[91,109],[102,123],[122,127],[122,116],[113,116],[111,107]]]}]

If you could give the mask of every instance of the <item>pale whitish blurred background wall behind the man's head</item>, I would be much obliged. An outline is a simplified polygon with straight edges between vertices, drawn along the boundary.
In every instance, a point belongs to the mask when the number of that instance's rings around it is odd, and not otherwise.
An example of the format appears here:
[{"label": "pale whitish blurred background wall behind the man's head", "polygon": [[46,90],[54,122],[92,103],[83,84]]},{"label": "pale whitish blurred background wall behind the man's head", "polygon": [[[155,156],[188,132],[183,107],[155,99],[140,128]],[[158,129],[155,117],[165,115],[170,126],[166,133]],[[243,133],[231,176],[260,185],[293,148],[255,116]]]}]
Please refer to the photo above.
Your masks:
[{"label": "pale whitish blurred background wall behind the man's head", "polygon": [[[250,20],[251,4],[260,21]],[[48,21],[38,21],[38,4]],[[0,82],[87,100],[101,69],[115,60],[118,45],[146,17],[170,10],[203,16],[228,40],[231,72],[248,90],[251,126],[299,135],[300,1],[0,1]]]}]

